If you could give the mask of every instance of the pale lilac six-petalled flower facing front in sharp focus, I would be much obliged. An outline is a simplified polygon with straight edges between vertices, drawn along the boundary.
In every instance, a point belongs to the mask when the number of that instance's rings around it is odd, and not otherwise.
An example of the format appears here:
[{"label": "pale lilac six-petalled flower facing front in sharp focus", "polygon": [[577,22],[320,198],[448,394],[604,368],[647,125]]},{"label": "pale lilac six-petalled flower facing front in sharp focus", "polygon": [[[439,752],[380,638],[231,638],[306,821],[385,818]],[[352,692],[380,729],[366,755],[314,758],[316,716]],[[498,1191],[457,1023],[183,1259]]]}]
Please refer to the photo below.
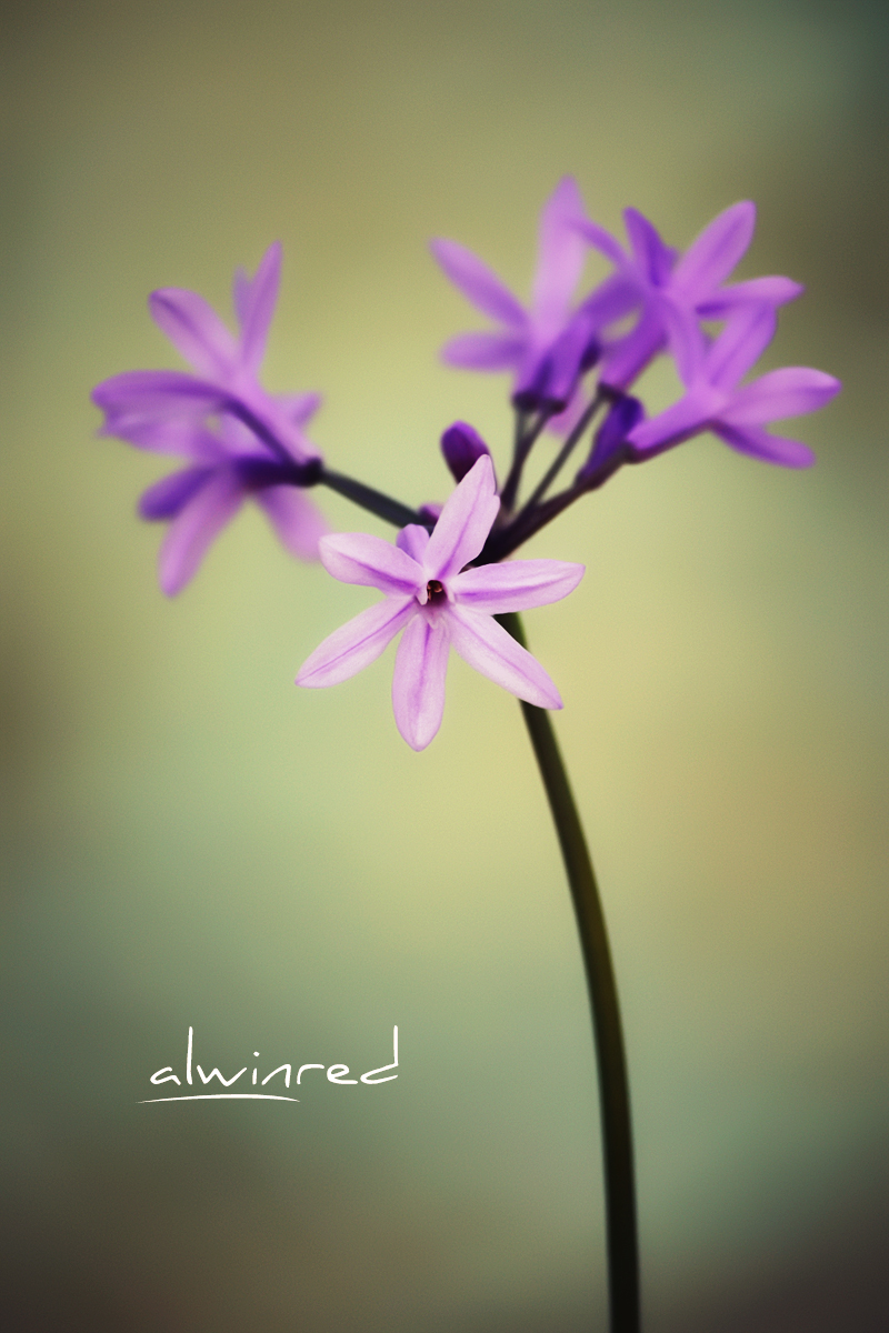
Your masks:
[{"label": "pale lilac six-petalled flower facing front in sharp focus", "polygon": [[323,537],[321,561],[343,583],[387,593],[335,631],[303,664],[297,685],[337,685],[383,653],[404,631],[395,663],[392,704],[399,730],[425,749],[441,725],[448,655],[538,708],[562,701],[540,663],[493,619],[542,607],[572,592],[584,567],[561,560],[513,560],[466,569],[500,508],[493,467],[482,455],[452,492],[432,536],[413,524],[396,544],[361,533]]}]

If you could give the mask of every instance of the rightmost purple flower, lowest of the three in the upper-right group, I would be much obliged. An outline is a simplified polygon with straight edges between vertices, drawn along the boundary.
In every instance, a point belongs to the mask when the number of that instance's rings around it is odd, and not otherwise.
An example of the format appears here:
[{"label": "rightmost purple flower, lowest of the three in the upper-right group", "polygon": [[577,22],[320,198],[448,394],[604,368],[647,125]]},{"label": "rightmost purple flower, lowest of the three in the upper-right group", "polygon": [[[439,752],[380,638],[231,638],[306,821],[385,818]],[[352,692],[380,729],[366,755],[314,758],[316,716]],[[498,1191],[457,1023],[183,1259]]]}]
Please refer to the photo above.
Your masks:
[{"label": "rightmost purple flower, lowest of the three in the upper-right group", "polygon": [[672,341],[686,393],[673,407],[629,432],[636,459],[650,457],[701,431],[712,431],[740,453],[788,468],[808,468],[814,455],[805,444],[770,435],[764,427],[817,411],[840,392],[841,384],[821,371],[786,367],[738,387],[738,380],[768,347],[774,327],[772,305],[741,307],[716,341],[708,344],[696,323],[676,319]]}]

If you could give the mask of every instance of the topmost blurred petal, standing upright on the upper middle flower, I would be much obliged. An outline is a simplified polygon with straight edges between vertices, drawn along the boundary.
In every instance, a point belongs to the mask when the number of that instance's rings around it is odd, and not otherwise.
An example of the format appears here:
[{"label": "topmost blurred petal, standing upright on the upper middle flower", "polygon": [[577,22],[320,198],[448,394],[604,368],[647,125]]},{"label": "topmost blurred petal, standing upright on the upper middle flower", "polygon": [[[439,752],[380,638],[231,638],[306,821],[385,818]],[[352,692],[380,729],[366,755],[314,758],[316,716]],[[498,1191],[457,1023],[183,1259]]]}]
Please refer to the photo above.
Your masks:
[{"label": "topmost blurred petal, standing upright on the upper middle flower", "polygon": [[574,288],[584,272],[586,247],[577,224],[584,200],[573,176],[562,176],[540,216],[537,272],[532,296],[534,328],[553,337],[568,317]]}]

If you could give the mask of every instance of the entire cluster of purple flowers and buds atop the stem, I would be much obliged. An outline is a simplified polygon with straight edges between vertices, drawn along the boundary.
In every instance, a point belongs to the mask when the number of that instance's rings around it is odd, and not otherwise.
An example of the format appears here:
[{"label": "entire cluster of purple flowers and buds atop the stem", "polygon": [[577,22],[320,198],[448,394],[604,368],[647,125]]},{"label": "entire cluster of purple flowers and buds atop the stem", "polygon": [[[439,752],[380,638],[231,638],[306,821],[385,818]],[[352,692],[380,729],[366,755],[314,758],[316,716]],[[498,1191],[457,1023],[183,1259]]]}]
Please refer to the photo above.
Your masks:
[{"label": "entire cluster of purple flowers and buds atop the stem", "polygon": [[[169,523],[160,551],[163,591],[173,595],[188,583],[213,537],[251,496],[293,555],[320,557],[336,579],[385,593],[312,653],[297,684],[345,680],[403,632],[393,706],[399,730],[415,749],[428,745],[441,724],[450,648],[526,702],[561,708],[546,672],[493,617],[566,596],[582,567],[506,557],[625,463],[706,431],[741,453],[808,467],[813,456],[805,444],[765,428],[822,407],[840,388],[832,376],[802,367],[742,383],[774,335],[778,307],[802,291],[786,277],[728,281],[753,237],[753,204],[720,213],[684,255],[634,209],[624,220],[626,247],[586,216],[570,177],[560,181],[541,215],[528,308],[470,251],[449,240],[432,243],[445,275],[494,323],[453,339],[443,357],[468,369],[509,371],[516,415],[500,489],[478,433],[465,423],[444,432],[441,451],[457,485],[443,507],[411,508],[332,472],[305,435],[320,395],[271,395],[261,387],[280,245],[267,251],[252,280],[244,272],[235,277],[237,336],[195,292],[155,292],[152,317],[196,373],[117,375],[96,388],[93,401],[105,415],[101,433],[187,460],[140,501],[143,517]],[[612,272],[578,297],[590,249]],[[673,357],[684,392],[648,417],[630,389],[658,355]],[[520,503],[525,464],[544,431],[562,444]],[[549,495],[584,439],[586,456],[573,481]],[[331,535],[305,496],[319,485],[395,523],[401,529],[395,545],[359,533]]]}]

